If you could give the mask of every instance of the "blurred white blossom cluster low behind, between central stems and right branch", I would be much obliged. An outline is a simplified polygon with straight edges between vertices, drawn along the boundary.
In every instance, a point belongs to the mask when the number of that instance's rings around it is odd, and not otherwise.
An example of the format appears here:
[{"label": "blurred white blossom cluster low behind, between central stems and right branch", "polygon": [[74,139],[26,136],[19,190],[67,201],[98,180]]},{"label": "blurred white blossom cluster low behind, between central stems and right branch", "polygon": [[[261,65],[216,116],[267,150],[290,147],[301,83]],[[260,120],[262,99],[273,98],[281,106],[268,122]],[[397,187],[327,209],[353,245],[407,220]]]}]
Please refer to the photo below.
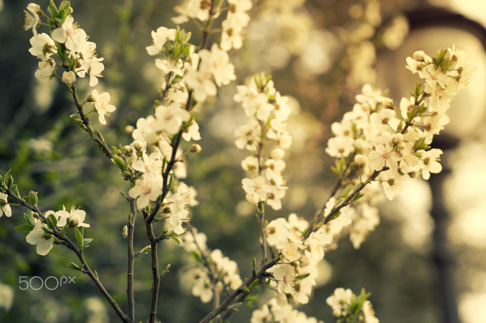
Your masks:
[{"label": "blurred white blossom cluster low behind, between central stems and right branch", "polygon": [[226,291],[226,288],[235,290],[243,283],[236,261],[224,257],[219,249],[209,252],[206,240],[206,235],[196,228],[180,237],[180,245],[196,258],[191,258],[181,272],[181,285],[200,297],[203,303],[208,303],[215,292]]}]

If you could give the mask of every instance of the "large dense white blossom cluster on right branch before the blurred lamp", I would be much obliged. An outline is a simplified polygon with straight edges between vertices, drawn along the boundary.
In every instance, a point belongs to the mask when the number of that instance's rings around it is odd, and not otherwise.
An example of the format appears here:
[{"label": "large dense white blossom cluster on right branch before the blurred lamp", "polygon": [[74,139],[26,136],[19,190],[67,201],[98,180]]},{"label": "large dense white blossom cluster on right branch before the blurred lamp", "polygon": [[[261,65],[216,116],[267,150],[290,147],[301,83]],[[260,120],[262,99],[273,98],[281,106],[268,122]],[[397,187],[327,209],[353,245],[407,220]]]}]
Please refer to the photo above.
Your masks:
[{"label": "large dense white blossom cluster on right branch before the blurred lamp", "polygon": [[[366,84],[362,94],[356,96],[358,103],[353,110],[345,113],[341,122],[331,125],[335,137],[329,139],[326,152],[340,159],[336,163],[340,175],[349,170],[356,175],[341,197],[347,197],[354,187],[373,175],[378,181],[364,187],[364,198],[357,201],[356,208],[342,208],[339,221],[325,225],[329,233],[339,234],[347,229],[358,248],[380,221],[378,210],[370,205],[383,194],[392,200],[402,192],[408,177],[421,173],[422,178],[429,179],[430,173],[442,170],[442,151],[429,149],[428,145],[449,123],[450,101],[459,88],[468,84],[474,71],[466,58],[466,52],[455,47],[439,51],[434,59],[417,51],[414,58],[407,58],[406,67],[425,79],[423,91],[417,82],[412,96],[403,97],[397,109],[393,100]],[[330,211],[338,204],[331,198],[326,208]]]}]

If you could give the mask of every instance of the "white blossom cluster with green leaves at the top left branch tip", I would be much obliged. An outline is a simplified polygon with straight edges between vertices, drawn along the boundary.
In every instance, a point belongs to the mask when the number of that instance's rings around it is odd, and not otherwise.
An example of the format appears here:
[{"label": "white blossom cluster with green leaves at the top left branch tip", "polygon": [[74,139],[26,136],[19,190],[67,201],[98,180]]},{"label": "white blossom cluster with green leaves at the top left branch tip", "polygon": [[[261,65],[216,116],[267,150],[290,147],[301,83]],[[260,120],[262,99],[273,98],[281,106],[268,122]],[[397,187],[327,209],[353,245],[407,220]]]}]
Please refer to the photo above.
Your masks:
[{"label": "white blossom cluster with green leaves at the top left branch tip", "polygon": [[[72,84],[76,81],[76,77],[84,78],[89,75],[89,85],[97,85],[98,78],[102,77],[101,72],[104,70],[104,65],[101,63],[103,57],[97,57],[96,43],[87,41],[89,36],[74,22],[69,2],[65,3],[65,7],[59,8],[55,8],[51,4],[51,13],[55,15],[55,17],[48,17],[51,36],[44,32],[37,32],[37,25],[40,23],[39,15],[43,13],[40,6],[29,3],[27,10],[25,11],[24,29],[32,28],[34,32],[34,36],[30,39],[32,47],[29,52],[41,59],[35,77],[40,80],[52,80],[54,77],[58,77],[64,83]],[[55,28],[56,26],[59,27]],[[58,43],[59,47],[56,47],[54,41]],[[54,57],[57,57],[59,61],[56,62]],[[57,65],[66,69],[62,77],[56,74]],[[99,95],[96,90],[93,90],[88,98],[89,102],[93,102],[93,111],[99,113],[99,120],[103,125],[106,124],[104,116],[109,116],[110,112],[115,111],[115,106],[108,104],[109,100],[110,95],[107,92]]]}]

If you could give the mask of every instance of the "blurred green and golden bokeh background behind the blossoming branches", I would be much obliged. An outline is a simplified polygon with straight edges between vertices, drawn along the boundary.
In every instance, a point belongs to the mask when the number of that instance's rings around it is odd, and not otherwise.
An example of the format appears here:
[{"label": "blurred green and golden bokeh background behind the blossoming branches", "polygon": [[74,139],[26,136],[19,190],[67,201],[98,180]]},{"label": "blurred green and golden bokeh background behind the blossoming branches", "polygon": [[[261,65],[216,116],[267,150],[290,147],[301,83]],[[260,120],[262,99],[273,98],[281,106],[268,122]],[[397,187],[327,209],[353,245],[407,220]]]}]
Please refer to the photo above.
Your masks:
[{"label": "blurred green and golden bokeh background behind the blossoming branches", "polygon": [[[161,75],[145,47],[150,31],[174,28],[174,0],[72,1],[75,20],[96,42],[104,57],[104,79],[96,87],[108,91],[117,107],[102,129],[109,145],[132,141],[125,131],[150,113]],[[86,250],[106,289],[125,308],[126,244],[121,235],[129,208],[119,193],[129,187],[119,171],[69,118],[75,113],[70,94],[58,81],[35,79],[37,61],[29,52],[31,32],[22,28],[28,1],[0,0],[0,174],[11,174],[22,194],[38,192],[41,210],[72,204],[87,212],[94,238]],[[38,1],[47,8],[48,1]],[[191,222],[208,235],[208,246],[220,248],[239,264],[243,277],[260,253],[253,207],[244,200],[240,161],[246,155],[234,145],[233,132],[244,123],[233,102],[235,85],[253,73],[273,74],[278,91],[292,96],[289,130],[294,138],[286,156],[289,190],[283,209],[311,219],[327,198],[335,176],[324,152],[339,121],[355,103],[364,83],[389,89],[396,102],[413,89],[414,76],[405,57],[415,50],[465,48],[478,71],[468,91],[451,108],[451,124],[437,137],[445,151],[444,171],[429,182],[407,181],[393,202],[380,204],[381,224],[360,249],[347,238],[326,254],[321,280],[309,304],[298,307],[333,322],[326,298],[337,287],[362,287],[381,322],[486,322],[486,5],[483,0],[259,0],[253,1],[244,46],[230,52],[238,80],[200,107],[197,118],[203,150],[188,156],[184,180],[199,192]],[[192,43],[200,36],[191,23]],[[39,29],[42,30],[42,27]],[[218,35],[210,38],[219,41]],[[80,93],[91,91],[78,80]],[[111,102],[110,102],[111,103]],[[0,322],[118,322],[93,283],[68,268],[75,256],[56,246],[39,256],[25,241],[22,212],[13,208],[0,219]],[[138,219],[135,249],[148,244]],[[162,225],[156,227],[161,231]],[[161,281],[158,320],[199,322],[210,310],[179,283],[185,261],[171,241],[160,243],[160,267],[171,263]],[[144,257],[145,256],[145,257]],[[150,304],[150,258],[135,259],[136,322],[145,322]],[[55,291],[21,291],[18,277],[73,276],[76,284]],[[183,285],[183,284],[182,284]],[[261,291],[264,302],[271,293]],[[254,303],[254,308],[259,304]],[[243,305],[231,322],[249,322],[252,308]]]}]

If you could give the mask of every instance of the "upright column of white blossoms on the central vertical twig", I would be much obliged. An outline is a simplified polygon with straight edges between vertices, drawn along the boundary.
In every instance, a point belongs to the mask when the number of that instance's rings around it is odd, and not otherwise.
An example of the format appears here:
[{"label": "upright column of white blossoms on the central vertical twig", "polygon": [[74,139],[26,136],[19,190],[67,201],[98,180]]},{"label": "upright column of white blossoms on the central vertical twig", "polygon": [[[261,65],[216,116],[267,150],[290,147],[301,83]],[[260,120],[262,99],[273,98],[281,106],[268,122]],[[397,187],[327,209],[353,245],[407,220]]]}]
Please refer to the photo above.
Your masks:
[{"label": "upright column of white blossoms on the central vertical twig", "polygon": [[[274,88],[270,77],[255,75],[251,84],[238,85],[234,100],[241,102],[248,121],[235,130],[239,137],[235,144],[254,152],[242,161],[243,169],[252,178],[243,178],[243,189],[246,199],[251,204],[265,202],[274,210],[282,208],[281,199],[287,187],[281,172],[285,168],[282,160],[292,144],[292,137],[287,130],[287,119],[291,108],[289,98],[282,97]],[[266,145],[274,144],[275,148],[268,157],[262,156]]]}]

